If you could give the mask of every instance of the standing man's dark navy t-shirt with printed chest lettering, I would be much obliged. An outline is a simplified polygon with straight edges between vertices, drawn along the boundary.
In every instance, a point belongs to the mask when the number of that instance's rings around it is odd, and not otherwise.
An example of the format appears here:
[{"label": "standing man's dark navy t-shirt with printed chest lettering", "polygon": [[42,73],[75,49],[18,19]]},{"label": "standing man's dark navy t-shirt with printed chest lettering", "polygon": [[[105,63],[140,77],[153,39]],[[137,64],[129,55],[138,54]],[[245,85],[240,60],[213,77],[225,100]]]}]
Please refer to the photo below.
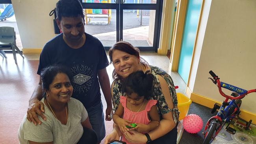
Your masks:
[{"label": "standing man's dark navy t-shirt with printed chest lettering", "polygon": [[100,103],[100,85],[97,71],[109,65],[102,43],[85,33],[85,43],[81,48],[70,48],[63,40],[63,33],[47,42],[41,52],[37,74],[47,66],[57,64],[70,68],[74,80],[73,98],[80,100],[85,108]]}]

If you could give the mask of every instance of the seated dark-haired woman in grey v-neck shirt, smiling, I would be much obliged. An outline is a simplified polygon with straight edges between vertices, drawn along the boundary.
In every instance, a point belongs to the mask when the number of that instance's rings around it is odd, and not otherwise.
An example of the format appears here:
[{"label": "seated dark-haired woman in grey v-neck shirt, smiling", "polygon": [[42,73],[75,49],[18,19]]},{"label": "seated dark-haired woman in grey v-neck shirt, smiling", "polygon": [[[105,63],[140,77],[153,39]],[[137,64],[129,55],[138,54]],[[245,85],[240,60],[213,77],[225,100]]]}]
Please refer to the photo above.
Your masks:
[{"label": "seated dark-haired woman in grey v-neck shirt, smiling", "polygon": [[[20,144],[96,144],[97,136],[83,104],[71,98],[72,75],[62,66],[41,72],[46,120],[34,125],[24,116],[18,131]],[[40,119],[41,117],[39,117]]]}]

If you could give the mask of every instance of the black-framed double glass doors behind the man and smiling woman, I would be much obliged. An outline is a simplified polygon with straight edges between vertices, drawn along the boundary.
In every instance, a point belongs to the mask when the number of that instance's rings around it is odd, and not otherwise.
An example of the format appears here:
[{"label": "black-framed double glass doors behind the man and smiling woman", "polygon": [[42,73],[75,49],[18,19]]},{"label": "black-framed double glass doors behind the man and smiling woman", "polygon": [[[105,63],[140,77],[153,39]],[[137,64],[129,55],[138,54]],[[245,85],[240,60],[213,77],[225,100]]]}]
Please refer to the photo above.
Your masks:
[{"label": "black-framed double glass doors behind the man and smiling woman", "polygon": [[106,50],[127,41],[141,51],[157,51],[163,0],[81,0],[85,32]]}]

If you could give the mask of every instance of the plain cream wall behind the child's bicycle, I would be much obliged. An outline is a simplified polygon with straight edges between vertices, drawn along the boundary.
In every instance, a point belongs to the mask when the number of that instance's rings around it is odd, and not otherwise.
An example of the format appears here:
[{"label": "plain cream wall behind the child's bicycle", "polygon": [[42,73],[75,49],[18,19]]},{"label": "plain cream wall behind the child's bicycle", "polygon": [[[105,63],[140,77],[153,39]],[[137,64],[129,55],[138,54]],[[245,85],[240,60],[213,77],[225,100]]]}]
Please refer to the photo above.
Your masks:
[{"label": "plain cream wall behind the child's bicycle", "polygon": [[[195,84],[192,85],[193,79],[189,81],[193,93],[224,100],[208,80],[210,70],[223,82],[256,89],[256,0],[212,0],[205,33],[198,33],[198,38],[202,35],[201,53],[195,57],[199,57],[198,68],[191,73]],[[242,101],[242,109],[256,113],[256,93]]]}]

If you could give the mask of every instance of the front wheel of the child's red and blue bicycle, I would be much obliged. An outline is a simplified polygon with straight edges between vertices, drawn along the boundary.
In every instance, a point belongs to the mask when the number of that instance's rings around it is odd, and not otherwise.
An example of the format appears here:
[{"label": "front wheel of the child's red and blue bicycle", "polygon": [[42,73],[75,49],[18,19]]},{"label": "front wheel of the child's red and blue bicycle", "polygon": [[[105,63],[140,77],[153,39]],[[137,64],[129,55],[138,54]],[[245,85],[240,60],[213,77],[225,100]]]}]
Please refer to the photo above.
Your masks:
[{"label": "front wheel of the child's red and blue bicycle", "polygon": [[213,139],[215,138],[213,137],[213,134],[215,131],[217,131],[217,125],[218,123],[216,120],[211,121],[211,126],[207,130],[207,134],[206,134],[206,137],[204,138],[203,144],[210,144],[213,141]]}]

